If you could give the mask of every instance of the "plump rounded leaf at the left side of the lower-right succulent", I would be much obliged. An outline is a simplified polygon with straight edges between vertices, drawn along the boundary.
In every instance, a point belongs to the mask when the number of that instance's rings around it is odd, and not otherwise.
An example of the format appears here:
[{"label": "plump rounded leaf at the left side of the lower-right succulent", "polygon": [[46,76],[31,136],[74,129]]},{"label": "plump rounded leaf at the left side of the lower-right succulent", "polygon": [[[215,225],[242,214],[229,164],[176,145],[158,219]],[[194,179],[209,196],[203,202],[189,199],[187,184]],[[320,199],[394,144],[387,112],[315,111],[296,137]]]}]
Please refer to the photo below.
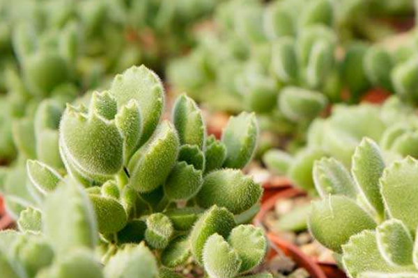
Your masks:
[{"label": "plump rounded leaf at the left side of the lower-right succulent", "polygon": [[322,245],[338,253],[350,236],[376,228],[373,218],[345,196],[330,196],[312,202],[311,208],[309,231]]}]

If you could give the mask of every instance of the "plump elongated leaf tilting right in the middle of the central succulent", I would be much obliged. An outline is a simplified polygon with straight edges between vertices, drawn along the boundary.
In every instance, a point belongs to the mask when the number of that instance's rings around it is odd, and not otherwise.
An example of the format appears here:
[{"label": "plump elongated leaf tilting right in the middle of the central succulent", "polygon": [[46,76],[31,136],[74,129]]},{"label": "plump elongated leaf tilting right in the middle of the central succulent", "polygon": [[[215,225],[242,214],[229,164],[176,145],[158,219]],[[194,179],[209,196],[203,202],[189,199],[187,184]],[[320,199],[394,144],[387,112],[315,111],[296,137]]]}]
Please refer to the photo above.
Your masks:
[{"label": "plump elongated leaf tilting right in the middle of the central succulent", "polygon": [[180,142],[169,122],[162,122],[151,142],[132,156],[130,186],[148,193],[162,185],[176,165]]}]

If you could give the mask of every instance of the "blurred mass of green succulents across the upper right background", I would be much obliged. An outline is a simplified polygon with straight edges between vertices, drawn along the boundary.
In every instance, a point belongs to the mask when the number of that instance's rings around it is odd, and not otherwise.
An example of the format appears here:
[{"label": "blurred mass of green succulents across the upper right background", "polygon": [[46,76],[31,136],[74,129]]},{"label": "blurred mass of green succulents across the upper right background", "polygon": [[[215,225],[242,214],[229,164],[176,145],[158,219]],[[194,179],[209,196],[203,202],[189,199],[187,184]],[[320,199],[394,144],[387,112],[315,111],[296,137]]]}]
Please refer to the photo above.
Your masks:
[{"label": "blurred mass of green succulents across the upper right background", "polygon": [[[190,54],[169,65],[169,81],[175,90],[190,92],[214,110],[254,111],[261,129],[303,142],[307,126],[328,103],[357,102],[376,87],[413,100],[414,42],[389,52],[344,39],[347,26],[364,27],[369,12],[380,14],[383,6],[390,4],[229,1],[217,8],[214,30],[203,33]],[[348,97],[341,94],[344,90]]]}]

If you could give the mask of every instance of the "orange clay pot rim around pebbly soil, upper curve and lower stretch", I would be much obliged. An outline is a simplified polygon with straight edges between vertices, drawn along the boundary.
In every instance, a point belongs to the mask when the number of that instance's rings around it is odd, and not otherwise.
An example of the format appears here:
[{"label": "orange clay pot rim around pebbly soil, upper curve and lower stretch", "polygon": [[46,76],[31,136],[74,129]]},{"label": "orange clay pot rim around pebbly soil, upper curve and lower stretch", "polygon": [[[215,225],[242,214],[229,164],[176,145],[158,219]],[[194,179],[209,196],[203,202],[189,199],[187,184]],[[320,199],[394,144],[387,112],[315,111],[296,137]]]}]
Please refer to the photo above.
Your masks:
[{"label": "orange clay pot rim around pebbly soil, upper curve and lower stretch", "polygon": [[[258,227],[262,226],[263,218],[268,213],[268,211],[271,211],[272,208],[274,208],[274,205],[276,204],[277,200],[288,199],[288,198],[293,198],[293,197],[303,196],[303,195],[306,195],[306,193],[304,193],[303,190],[300,190],[298,188],[292,188],[292,187],[272,194],[270,197],[265,199],[265,201],[261,204],[260,211],[258,212],[258,214],[256,215],[256,217],[253,220],[254,225],[256,225]],[[302,251],[300,251],[299,248],[296,245],[294,245],[293,243],[288,243],[285,240],[281,240],[278,236],[276,236],[275,234],[273,234],[271,232],[268,232],[268,236],[269,236],[269,238],[272,237],[272,238],[275,239],[275,241],[270,239],[274,243],[280,242],[280,243],[286,243],[287,246],[292,246],[292,250],[297,250],[297,252],[302,254],[302,256],[304,256],[304,258],[307,259],[309,261],[309,263],[311,263],[311,264],[317,266],[318,268],[320,268],[322,272],[325,272],[326,277],[328,277],[328,278],[346,278],[346,275],[344,274],[344,272],[341,271],[335,263],[318,261],[318,259],[316,259],[316,258],[311,258],[311,257],[303,254]]]}]

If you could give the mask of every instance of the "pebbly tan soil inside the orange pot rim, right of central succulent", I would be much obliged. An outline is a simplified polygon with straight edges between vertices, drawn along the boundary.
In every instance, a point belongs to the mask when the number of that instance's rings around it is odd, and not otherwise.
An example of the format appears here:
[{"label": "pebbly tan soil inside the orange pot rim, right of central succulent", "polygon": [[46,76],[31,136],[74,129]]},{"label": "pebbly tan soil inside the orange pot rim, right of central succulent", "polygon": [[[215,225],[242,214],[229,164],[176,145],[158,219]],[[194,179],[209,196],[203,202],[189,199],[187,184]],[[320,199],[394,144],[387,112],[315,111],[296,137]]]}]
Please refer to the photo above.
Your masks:
[{"label": "pebbly tan soil inside the orange pot rim, right of central succulent", "polygon": [[281,215],[289,213],[298,206],[307,205],[309,202],[311,202],[311,198],[307,196],[295,197],[292,199],[279,199],[274,206],[274,211],[269,211],[265,215],[263,224],[269,231],[277,234],[280,238],[297,245],[297,247],[299,247],[304,254],[307,254],[307,256],[314,257],[320,262],[334,263],[332,252],[320,245],[320,243],[309,234],[307,229],[302,229],[301,231],[281,231],[281,229],[277,227]]}]

